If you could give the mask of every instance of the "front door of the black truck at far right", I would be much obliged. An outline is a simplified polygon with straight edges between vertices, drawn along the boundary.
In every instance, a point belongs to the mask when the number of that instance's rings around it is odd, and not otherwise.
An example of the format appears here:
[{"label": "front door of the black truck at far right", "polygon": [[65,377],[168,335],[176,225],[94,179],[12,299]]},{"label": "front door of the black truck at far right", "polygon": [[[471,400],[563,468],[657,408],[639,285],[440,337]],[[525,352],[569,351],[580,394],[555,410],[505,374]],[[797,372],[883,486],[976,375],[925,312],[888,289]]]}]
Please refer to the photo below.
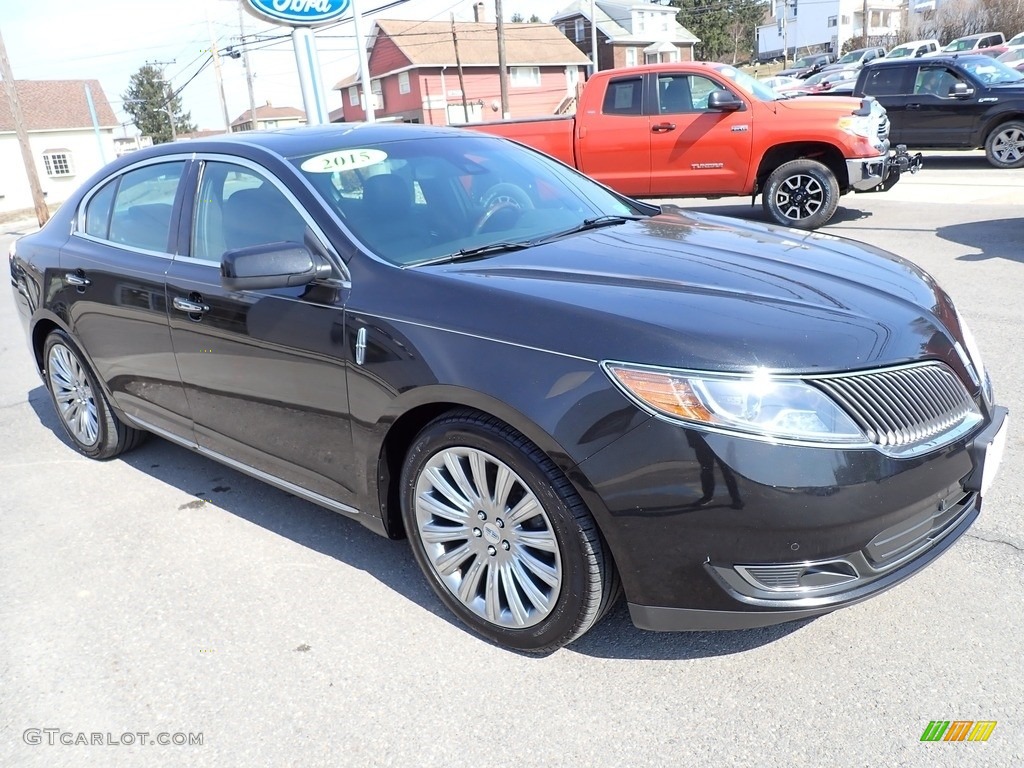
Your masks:
[{"label": "front door of the black truck at far right", "polygon": [[[974,93],[959,98],[951,95],[957,83]],[[942,63],[919,65],[899,141],[907,146],[971,146],[984,112],[977,86],[963,75]]]}]

